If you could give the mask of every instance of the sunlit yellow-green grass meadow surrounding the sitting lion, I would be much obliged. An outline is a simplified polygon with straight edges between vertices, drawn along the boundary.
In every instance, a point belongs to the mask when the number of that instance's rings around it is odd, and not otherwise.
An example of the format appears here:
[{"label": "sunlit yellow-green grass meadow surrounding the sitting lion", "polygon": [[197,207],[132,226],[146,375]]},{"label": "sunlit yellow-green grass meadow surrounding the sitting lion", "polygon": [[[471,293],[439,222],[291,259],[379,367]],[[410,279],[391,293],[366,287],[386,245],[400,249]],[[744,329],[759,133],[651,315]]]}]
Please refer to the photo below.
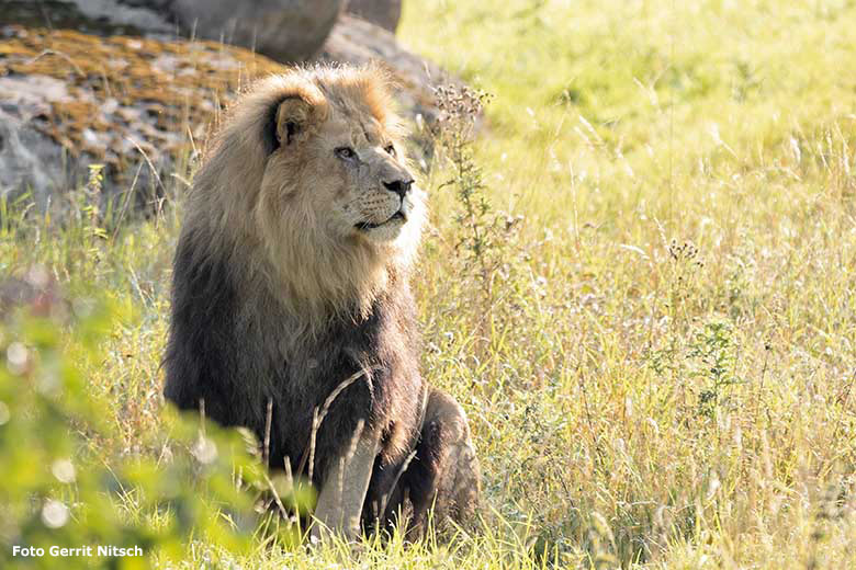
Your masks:
[{"label": "sunlit yellow-green grass meadow surrounding the sitting lion", "polygon": [[[854,21],[844,0],[405,2],[402,42],[493,95],[426,174],[414,283],[485,524],[354,565],[856,567]],[[148,453],[180,204],[106,238],[19,206],[0,271],[128,309],[88,371],[116,434],[92,453]]]}]

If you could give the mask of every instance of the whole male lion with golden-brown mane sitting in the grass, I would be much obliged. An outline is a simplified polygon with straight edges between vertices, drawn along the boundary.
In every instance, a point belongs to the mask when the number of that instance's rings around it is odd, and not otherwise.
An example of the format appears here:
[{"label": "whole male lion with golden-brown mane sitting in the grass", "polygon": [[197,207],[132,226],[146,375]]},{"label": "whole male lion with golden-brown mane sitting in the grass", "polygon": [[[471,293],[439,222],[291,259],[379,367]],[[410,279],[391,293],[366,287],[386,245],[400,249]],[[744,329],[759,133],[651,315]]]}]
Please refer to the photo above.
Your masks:
[{"label": "whole male lion with golden-brown mane sitting in the grass", "polygon": [[478,502],[466,415],[419,373],[426,196],[391,89],[378,66],[258,81],[194,176],[174,255],[165,397],[309,478],[317,537],[418,537],[431,510],[464,523]]}]

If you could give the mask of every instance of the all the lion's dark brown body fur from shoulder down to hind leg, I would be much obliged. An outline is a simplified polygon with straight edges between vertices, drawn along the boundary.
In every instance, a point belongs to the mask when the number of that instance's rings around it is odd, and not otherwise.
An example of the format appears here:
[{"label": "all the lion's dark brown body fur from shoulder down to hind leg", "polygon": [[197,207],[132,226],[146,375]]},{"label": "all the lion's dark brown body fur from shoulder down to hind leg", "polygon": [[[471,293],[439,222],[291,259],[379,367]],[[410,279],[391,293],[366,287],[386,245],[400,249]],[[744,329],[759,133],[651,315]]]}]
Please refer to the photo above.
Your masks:
[{"label": "all the lion's dark brown body fur from shoulder down to hind leg", "polygon": [[[255,142],[259,150],[275,148],[270,122],[280,101],[271,99],[270,112],[254,124],[263,130]],[[227,151],[221,146],[216,156]],[[210,185],[225,175],[224,163],[205,164],[198,183]],[[420,339],[406,277],[388,267],[387,286],[368,315],[357,308],[331,311],[325,327],[309,330],[283,306],[260,269],[261,252],[251,249],[258,243],[230,241],[203,218],[185,224],[176,252],[166,398],[183,410],[199,410],[204,402],[209,418],[246,426],[259,441],[272,401],[269,466],[284,468],[289,461],[292,472],[311,472],[316,486],[363,421],[364,429],[382,436],[364,523],[381,518],[385,525],[407,512],[421,533],[435,503],[442,516],[457,521],[471,514],[478,467],[466,420],[451,398],[429,390],[419,375]],[[361,371],[333,401],[309,461],[314,412]]]}]

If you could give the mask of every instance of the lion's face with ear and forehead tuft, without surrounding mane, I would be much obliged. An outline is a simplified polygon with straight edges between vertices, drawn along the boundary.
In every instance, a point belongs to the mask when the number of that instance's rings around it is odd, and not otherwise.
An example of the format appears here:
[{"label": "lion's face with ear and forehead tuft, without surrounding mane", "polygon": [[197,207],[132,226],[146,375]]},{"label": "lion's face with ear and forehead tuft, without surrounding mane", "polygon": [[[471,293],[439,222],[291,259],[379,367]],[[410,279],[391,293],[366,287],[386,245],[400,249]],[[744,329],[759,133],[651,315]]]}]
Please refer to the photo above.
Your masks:
[{"label": "lion's face with ear and forehead tuft, without surrounding mane", "polygon": [[[420,216],[383,76],[370,69],[302,73],[282,92],[277,148],[266,164],[259,221],[275,238],[282,217],[339,247],[394,242]],[[415,224],[410,224],[410,227]]]}]

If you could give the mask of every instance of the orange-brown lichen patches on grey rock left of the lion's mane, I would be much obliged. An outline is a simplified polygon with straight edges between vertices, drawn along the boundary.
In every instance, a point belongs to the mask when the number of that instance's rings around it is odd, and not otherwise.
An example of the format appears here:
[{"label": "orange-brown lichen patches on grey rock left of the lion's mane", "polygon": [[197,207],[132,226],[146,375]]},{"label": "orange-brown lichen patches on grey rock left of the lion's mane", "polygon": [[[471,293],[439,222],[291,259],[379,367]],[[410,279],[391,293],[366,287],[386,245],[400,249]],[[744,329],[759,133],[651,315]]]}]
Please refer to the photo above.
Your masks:
[{"label": "orange-brown lichen patches on grey rock left of the lion's mane", "polygon": [[[49,186],[79,182],[93,162],[120,184],[129,183],[139,164],[162,171],[205,139],[212,118],[243,86],[283,70],[213,42],[21,26],[7,26],[0,37],[0,112],[10,123],[0,148],[0,191],[30,186],[40,201],[63,190]],[[14,163],[26,155],[22,138],[37,135],[58,142],[70,159],[66,168],[45,161],[49,182]]]}]

